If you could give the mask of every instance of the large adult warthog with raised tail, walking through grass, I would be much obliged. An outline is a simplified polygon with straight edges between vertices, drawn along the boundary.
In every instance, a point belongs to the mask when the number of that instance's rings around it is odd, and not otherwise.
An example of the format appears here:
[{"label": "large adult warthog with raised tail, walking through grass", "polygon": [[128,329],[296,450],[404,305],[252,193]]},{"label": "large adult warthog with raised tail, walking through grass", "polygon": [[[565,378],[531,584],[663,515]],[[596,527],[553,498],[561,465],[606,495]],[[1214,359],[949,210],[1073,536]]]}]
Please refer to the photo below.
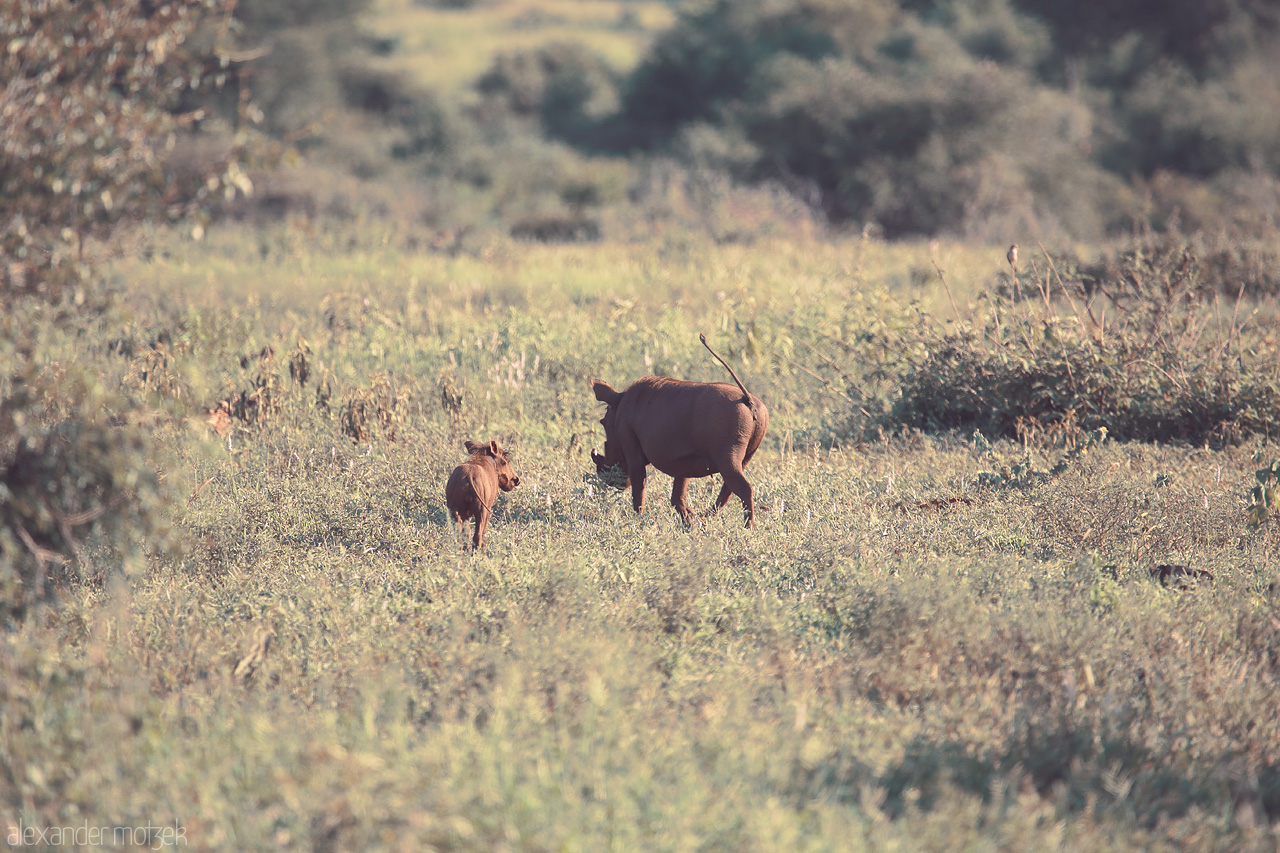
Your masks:
[{"label": "large adult warthog with raised tail, walking through grass", "polygon": [[645,466],[675,478],[671,505],[689,524],[689,480],[719,474],[724,478],[714,515],[730,494],[742,498],[746,526],[755,526],[751,484],[744,469],[769,425],[769,410],[748,392],[733,369],[716,355],[707,336],[698,338],[733,377],[733,387],[723,382],[685,382],[667,377],[636,379],[626,391],[614,391],[607,382],[591,380],[595,398],[608,405],[604,425],[604,453],[591,451],[595,470],[616,488],[631,485],[636,512],[644,507]]}]

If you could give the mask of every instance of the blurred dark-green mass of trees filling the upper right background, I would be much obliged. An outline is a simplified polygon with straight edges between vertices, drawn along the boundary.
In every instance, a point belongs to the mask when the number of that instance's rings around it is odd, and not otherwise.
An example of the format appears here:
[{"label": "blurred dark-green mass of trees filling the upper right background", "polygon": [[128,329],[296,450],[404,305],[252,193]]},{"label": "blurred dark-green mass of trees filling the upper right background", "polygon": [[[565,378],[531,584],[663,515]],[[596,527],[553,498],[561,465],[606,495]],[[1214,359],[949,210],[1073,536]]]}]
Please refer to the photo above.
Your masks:
[{"label": "blurred dark-green mass of trees filling the upper right background", "polygon": [[634,145],[891,236],[1276,214],[1266,0],[709,0],[621,86]]}]

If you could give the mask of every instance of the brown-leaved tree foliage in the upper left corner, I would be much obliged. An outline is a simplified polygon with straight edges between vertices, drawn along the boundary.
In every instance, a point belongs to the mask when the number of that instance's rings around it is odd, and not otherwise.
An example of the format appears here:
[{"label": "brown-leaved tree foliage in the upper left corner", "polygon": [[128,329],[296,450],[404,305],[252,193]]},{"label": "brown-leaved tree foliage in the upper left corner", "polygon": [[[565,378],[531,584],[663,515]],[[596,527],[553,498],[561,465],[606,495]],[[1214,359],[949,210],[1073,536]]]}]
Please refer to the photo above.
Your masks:
[{"label": "brown-leaved tree foliage in the upper left corner", "polygon": [[195,118],[183,92],[209,88],[187,49],[224,0],[83,4],[18,0],[0,18],[0,296],[60,300],[90,278],[93,242],[122,223],[188,213],[248,188],[237,151],[166,168],[168,141]]}]

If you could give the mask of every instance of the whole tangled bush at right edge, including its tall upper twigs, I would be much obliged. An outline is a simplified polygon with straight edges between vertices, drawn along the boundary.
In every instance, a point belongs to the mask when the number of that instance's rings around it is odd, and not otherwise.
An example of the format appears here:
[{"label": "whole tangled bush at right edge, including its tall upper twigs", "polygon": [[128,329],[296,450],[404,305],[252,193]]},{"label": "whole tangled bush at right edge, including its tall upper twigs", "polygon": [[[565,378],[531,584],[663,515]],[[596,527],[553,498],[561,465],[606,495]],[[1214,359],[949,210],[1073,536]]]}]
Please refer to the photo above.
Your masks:
[{"label": "whole tangled bush at right edge, including its tall upper twigs", "polygon": [[1213,320],[1230,306],[1202,306],[1185,246],[1156,241],[1121,257],[1120,280],[1059,279],[1057,297],[1046,272],[1039,307],[992,297],[980,330],[924,328],[927,355],[884,423],[1019,438],[1106,428],[1120,441],[1194,444],[1274,434],[1275,343],[1234,314]]}]

